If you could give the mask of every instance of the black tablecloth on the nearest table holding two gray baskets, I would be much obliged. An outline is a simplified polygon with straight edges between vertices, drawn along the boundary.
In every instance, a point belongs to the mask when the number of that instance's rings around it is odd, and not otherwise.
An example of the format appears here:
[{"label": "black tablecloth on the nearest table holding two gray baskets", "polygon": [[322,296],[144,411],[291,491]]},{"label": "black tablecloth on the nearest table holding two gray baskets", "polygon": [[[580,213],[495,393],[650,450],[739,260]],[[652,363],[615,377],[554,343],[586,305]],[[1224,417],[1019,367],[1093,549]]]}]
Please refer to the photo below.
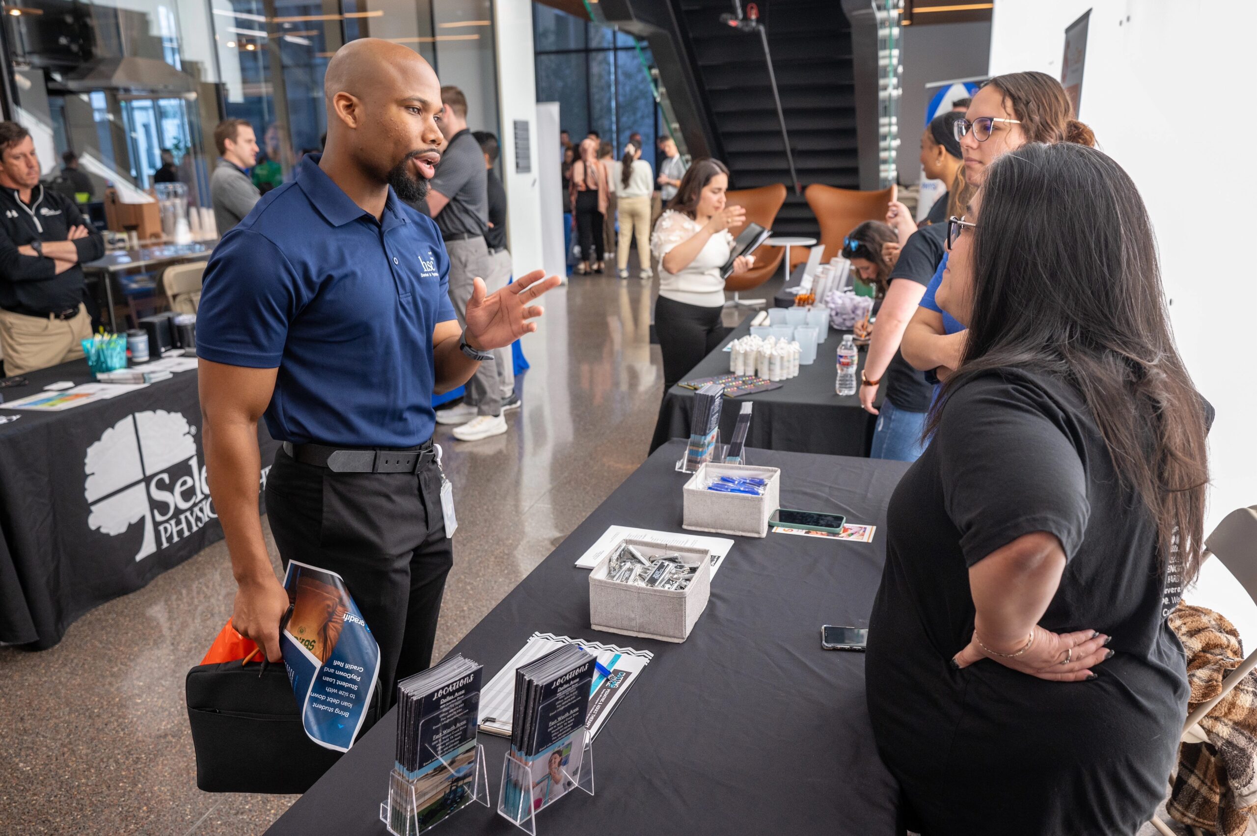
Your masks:
[{"label": "black tablecloth on the nearest table holding two gray baskets", "polygon": [[[593,631],[588,571],[572,564],[612,524],[681,531],[681,446],[652,455],[455,647],[484,665],[485,681],[533,631],[655,654],[593,743],[597,795],[573,792],[538,813],[539,836],[895,832],[897,788],[874,748],[864,657],[820,641],[822,624],[867,625],[886,503],[908,465],[753,451],[782,468],[782,504],[875,523],[874,542],[739,537],[684,644]],[[266,832],[385,833],[395,738],[396,710]],[[460,811],[445,836],[518,832],[495,812],[507,740],[480,740],[493,808]]]}]

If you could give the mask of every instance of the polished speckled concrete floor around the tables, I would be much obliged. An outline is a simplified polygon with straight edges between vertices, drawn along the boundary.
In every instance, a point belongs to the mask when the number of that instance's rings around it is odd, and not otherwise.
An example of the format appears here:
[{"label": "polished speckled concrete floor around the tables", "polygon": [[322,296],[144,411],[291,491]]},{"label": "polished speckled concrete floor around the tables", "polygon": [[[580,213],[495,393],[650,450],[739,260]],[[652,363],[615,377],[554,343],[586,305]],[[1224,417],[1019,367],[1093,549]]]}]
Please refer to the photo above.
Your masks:
[{"label": "polished speckled concrete floor around the tables", "polygon": [[[439,429],[460,524],[437,656],[645,459],[662,393],[652,298],[637,279],[573,278],[525,339],[533,368],[509,432],[461,444]],[[184,676],[234,591],[220,542],[83,616],[52,650],[0,647],[0,836],[235,836],[283,813],[295,796],[196,788]]]}]

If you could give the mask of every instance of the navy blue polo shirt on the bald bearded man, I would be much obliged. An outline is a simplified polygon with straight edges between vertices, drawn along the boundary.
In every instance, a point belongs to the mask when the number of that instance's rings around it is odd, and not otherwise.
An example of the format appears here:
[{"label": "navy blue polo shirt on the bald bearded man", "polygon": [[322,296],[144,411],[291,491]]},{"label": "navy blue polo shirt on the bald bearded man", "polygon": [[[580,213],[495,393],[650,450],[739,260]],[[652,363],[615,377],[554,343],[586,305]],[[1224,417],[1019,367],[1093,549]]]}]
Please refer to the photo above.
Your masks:
[{"label": "navy blue polo shirt on the bald bearded man", "polygon": [[274,439],[409,448],[432,435],[432,329],[455,319],[431,217],[392,189],[380,221],[307,155],[214,249],[196,353],[279,368]]}]

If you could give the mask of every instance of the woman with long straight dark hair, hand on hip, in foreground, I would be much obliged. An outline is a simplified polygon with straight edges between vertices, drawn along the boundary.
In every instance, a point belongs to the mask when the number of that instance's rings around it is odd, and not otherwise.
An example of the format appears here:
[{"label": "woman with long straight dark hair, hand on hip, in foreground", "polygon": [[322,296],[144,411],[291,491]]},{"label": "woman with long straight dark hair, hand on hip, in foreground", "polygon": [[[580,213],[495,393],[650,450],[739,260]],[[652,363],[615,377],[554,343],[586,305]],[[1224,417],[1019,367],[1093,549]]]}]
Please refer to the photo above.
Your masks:
[{"label": "woman with long straight dark hair, hand on hip, in foreground", "polygon": [[887,509],[877,749],[910,830],[1131,835],[1187,714],[1166,616],[1200,564],[1212,410],[1111,158],[1023,145],[949,225],[936,300],[969,336]]}]

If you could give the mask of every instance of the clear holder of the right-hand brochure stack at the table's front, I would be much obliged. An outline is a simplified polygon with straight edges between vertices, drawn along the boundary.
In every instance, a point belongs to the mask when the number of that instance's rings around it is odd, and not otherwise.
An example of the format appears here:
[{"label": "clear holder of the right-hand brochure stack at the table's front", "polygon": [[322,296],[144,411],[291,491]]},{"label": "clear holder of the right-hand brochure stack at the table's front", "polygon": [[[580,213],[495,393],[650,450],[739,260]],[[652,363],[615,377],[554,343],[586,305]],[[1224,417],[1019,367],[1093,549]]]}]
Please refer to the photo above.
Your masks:
[{"label": "clear holder of the right-hand brochure stack at the table's front", "polygon": [[[498,815],[519,830],[537,836],[537,813],[546,810],[572,789],[593,795],[593,738],[583,725],[572,733],[569,752],[579,752],[581,759],[574,768],[572,758],[563,758],[568,747],[559,747],[549,757],[541,754],[530,766],[517,754],[507,751],[502,761],[502,787],[498,789]],[[556,753],[562,762],[551,768],[549,758]],[[541,778],[533,773],[541,769]],[[562,787],[556,795],[554,788]]]}]

